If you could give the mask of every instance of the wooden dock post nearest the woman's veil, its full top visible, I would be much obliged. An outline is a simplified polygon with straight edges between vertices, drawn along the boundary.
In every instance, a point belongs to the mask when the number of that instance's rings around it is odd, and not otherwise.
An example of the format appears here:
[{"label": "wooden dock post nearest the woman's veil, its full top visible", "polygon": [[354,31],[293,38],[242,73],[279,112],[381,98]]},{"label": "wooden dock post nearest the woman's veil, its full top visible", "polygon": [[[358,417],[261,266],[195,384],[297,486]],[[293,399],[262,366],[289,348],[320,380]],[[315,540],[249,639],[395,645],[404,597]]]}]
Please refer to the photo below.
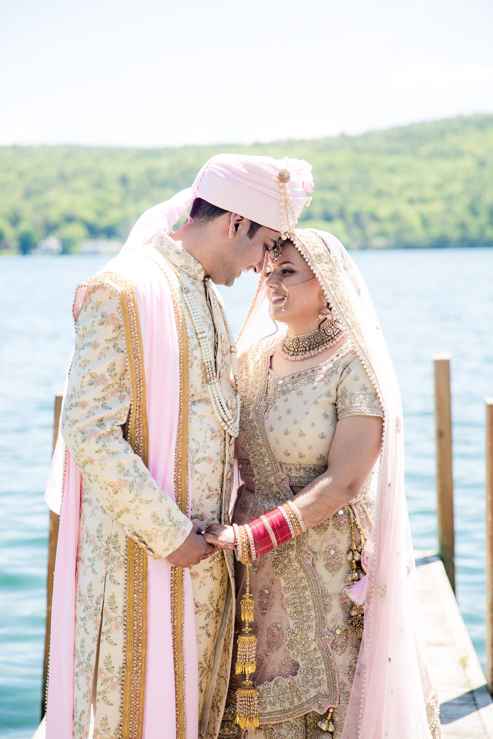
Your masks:
[{"label": "wooden dock post nearest the woman's veil, its full top visible", "polygon": [[455,593],[454,480],[452,476],[452,412],[450,355],[434,354],[435,425],[437,439],[438,551]]}]

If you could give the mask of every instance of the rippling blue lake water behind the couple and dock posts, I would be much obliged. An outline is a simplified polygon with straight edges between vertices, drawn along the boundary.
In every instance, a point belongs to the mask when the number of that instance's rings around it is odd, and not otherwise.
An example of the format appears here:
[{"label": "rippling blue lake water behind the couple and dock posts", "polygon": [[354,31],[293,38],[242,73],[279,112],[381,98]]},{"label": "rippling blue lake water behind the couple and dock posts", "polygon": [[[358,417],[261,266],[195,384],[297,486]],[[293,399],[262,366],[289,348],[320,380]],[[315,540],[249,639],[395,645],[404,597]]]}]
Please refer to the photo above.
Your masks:
[{"label": "rippling blue lake water behind the couple and dock posts", "polygon": [[[493,249],[352,253],[373,296],[404,405],[406,489],[416,548],[436,548],[431,354],[452,353],[457,596],[484,667],[484,398],[493,395]],[[101,256],[0,259],[0,737],[39,721],[55,392],[74,338],[77,282]],[[254,291],[221,288],[234,333]]]}]

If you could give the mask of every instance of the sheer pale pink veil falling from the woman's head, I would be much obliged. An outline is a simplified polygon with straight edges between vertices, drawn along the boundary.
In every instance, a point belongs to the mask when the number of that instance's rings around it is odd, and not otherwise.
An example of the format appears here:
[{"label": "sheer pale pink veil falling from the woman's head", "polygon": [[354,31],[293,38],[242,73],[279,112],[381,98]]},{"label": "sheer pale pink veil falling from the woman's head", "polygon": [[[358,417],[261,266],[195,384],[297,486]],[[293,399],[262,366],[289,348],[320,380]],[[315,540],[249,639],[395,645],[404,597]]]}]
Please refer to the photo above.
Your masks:
[{"label": "sheer pale pink veil falling from the woman's head", "polygon": [[[290,239],[336,307],[384,407],[364,633],[341,739],[438,739],[438,702],[426,664],[404,494],[401,395],[392,361],[370,293],[341,242],[311,229],[297,229]],[[261,289],[264,279],[265,265],[238,338],[239,355],[276,330]]]}]

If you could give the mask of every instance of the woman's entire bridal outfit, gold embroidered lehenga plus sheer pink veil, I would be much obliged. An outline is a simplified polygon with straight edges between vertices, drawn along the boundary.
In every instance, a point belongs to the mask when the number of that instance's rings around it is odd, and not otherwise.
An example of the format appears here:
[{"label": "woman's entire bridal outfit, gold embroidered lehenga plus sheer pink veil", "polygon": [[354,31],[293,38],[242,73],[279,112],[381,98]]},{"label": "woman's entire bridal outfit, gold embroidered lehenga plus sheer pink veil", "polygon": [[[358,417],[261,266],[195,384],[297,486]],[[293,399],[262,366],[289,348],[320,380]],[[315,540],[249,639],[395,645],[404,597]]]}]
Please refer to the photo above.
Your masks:
[{"label": "woman's entire bridal outfit, gold embroidered lehenga plus sheer pink veil", "polygon": [[[242,410],[232,521],[251,522],[290,500],[293,487],[302,488],[324,473],[341,418],[381,416],[386,421],[384,441],[375,475],[376,501],[370,495],[370,475],[360,493],[332,517],[250,567],[257,638],[251,680],[259,691],[259,738],[323,737],[317,723],[333,708],[336,730],[327,737],[435,739],[440,737],[438,705],[426,671],[415,584],[409,577],[414,563],[403,475],[397,466],[399,455],[393,452],[390,461],[388,457],[390,446],[395,449],[401,443],[401,419],[395,412],[400,414],[400,401],[398,395],[392,397],[388,365],[382,367],[388,355],[375,358],[375,349],[386,352],[383,341],[371,341],[368,347],[365,318],[373,322],[378,340],[380,329],[370,313],[371,303],[366,316],[359,310],[366,298],[361,294],[366,293],[361,276],[337,239],[323,236],[327,240],[313,231],[296,231],[293,242],[327,290],[347,338],[317,367],[296,372],[294,364],[293,373],[280,378],[270,368],[279,333],[269,336],[273,326],[266,319],[262,293],[257,293],[242,333],[243,345],[241,337],[239,341],[244,350],[239,361]],[[245,334],[250,341],[245,341]],[[265,338],[259,340],[261,336]],[[381,378],[390,378],[389,384],[384,386]],[[392,490],[392,479],[398,491]],[[389,516],[394,517],[390,528]],[[373,550],[365,565],[362,645],[348,630],[355,605],[347,594],[347,554],[351,537],[356,535],[359,543],[360,532]],[[237,562],[237,633],[242,628],[239,602],[245,574],[244,565]],[[233,664],[235,658],[234,654]],[[242,679],[233,669],[220,739],[254,737],[235,721],[235,693]],[[409,696],[414,704],[407,702]],[[388,701],[395,700],[398,703],[389,712]]]}]

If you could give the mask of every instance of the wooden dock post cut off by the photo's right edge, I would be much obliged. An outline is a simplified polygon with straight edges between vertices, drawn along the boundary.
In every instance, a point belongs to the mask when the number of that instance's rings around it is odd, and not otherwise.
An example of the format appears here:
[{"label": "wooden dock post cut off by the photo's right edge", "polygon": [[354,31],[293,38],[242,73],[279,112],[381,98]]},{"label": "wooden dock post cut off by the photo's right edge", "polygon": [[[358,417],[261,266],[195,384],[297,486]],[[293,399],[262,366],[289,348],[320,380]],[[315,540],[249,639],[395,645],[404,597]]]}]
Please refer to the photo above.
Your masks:
[{"label": "wooden dock post cut off by the photo's right edge", "polygon": [[493,398],[486,398],[486,681],[493,692]]}]

